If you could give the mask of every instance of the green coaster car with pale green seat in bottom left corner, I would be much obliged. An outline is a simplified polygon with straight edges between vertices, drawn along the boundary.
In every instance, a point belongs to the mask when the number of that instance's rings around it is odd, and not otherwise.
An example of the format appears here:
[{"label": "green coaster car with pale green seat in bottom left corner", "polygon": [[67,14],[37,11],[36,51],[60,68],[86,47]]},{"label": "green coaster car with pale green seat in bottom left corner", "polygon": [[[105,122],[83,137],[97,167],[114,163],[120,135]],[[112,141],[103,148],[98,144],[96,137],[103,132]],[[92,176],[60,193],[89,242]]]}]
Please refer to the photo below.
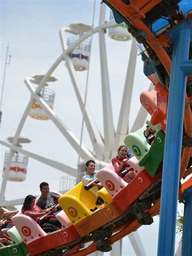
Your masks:
[{"label": "green coaster car with pale green seat in bottom left corner", "polygon": [[24,245],[21,236],[15,226],[7,231],[12,240],[11,245],[0,248],[0,256],[26,256],[28,255],[27,247]]}]

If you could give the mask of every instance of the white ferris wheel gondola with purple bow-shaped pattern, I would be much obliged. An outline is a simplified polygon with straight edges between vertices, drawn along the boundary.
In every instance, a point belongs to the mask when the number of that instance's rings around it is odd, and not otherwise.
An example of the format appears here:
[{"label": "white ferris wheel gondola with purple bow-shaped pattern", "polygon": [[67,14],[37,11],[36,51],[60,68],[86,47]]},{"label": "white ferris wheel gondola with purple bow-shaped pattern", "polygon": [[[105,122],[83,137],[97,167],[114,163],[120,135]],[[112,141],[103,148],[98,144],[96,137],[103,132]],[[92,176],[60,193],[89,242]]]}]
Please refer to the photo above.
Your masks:
[{"label": "white ferris wheel gondola with purple bow-shaped pattern", "polygon": [[[72,45],[79,39],[79,36],[71,36],[67,40],[67,45]],[[90,58],[90,40],[84,40],[77,45],[75,49],[70,53],[70,59],[73,66],[77,71],[87,70]]]}]

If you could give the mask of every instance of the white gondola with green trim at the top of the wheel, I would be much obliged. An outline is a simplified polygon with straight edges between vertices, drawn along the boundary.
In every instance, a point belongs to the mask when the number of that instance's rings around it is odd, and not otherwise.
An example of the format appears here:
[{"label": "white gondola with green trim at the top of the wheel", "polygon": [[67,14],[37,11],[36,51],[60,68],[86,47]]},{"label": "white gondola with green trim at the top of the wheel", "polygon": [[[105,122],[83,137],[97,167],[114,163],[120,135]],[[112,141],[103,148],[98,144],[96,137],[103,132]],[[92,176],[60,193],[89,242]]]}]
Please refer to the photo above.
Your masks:
[{"label": "white gondola with green trim at the top of the wheel", "polygon": [[[110,12],[110,21],[114,20],[113,13]],[[108,35],[117,41],[128,41],[132,39],[132,35],[127,30],[126,23],[120,23],[109,28]]]}]

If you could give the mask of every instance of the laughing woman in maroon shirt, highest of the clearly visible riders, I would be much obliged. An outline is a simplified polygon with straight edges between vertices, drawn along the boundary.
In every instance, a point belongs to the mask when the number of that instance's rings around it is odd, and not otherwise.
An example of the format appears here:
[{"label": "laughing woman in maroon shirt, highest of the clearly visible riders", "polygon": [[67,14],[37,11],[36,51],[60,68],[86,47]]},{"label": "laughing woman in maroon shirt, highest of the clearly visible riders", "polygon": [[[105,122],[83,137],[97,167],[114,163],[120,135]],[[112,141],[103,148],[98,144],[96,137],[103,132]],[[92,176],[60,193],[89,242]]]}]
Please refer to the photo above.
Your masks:
[{"label": "laughing woman in maroon shirt, highest of the clearly visible riders", "polygon": [[[119,176],[121,176],[120,174],[122,171],[128,170],[130,167],[130,165],[127,163],[127,160],[129,159],[127,156],[127,150],[128,148],[126,146],[120,146],[119,149],[117,149],[118,156],[111,159],[113,167],[115,168],[115,173],[117,173]],[[132,179],[134,179],[134,176],[134,170],[130,170],[123,177],[123,179],[129,183]]]}]

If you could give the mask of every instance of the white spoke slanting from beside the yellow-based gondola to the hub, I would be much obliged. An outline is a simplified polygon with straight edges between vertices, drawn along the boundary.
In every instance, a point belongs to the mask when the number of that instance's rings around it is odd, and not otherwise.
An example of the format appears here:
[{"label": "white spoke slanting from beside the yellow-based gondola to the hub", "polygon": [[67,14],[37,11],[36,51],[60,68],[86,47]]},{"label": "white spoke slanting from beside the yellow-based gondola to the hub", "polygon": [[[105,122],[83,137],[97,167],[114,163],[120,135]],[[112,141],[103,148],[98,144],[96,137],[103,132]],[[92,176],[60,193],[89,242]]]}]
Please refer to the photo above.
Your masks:
[{"label": "white spoke slanting from beside the yellow-based gondola to the hub", "polygon": [[77,153],[81,156],[81,158],[86,159],[92,157],[92,153],[89,149],[87,149],[84,145],[81,145],[80,147],[80,141],[79,139],[71,132],[62,122],[62,120],[55,114],[55,112],[47,105],[47,103],[37,94],[35,94],[34,87],[32,86],[30,82],[30,77],[26,77],[25,83],[30,90],[32,97],[35,99],[35,101],[38,102],[38,104],[41,106],[41,108],[45,111],[45,113],[48,115],[48,117],[53,121],[55,126],[60,130],[60,132],[64,135],[64,137],[69,141],[71,146],[77,151]]}]

